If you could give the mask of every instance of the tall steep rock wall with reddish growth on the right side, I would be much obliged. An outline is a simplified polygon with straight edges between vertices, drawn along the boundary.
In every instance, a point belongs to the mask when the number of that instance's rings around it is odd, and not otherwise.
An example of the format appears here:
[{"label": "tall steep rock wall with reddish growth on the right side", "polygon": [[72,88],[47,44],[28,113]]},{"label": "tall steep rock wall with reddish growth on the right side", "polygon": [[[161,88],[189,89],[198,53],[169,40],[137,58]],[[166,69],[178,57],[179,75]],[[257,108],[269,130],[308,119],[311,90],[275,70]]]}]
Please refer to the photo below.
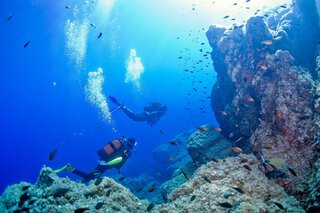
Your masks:
[{"label": "tall steep rock wall with reddish growth on the right side", "polygon": [[250,145],[261,161],[282,159],[282,172],[293,171],[289,191],[310,175],[320,132],[314,108],[317,11],[314,1],[305,3],[274,18],[275,26],[252,17],[245,26],[207,32],[217,72],[211,103],[222,133],[245,150]]}]

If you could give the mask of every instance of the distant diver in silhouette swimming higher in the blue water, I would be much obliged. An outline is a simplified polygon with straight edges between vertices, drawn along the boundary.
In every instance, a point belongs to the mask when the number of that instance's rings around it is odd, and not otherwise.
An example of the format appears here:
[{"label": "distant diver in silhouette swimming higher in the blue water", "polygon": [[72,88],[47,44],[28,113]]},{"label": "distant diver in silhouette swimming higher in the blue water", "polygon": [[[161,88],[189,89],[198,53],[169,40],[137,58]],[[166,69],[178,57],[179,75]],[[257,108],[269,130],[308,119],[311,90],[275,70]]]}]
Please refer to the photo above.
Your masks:
[{"label": "distant diver in silhouette swimming higher in the blue water", "polygon": [[143,108],[142,113],[134,113],[124,104],[120,103],[115,97],[109,96],[109,98],[112,103],[117,105],[111,113],[121,109],[130,119],[134,121],[146,121],[150,126],[155,125],[167,111],[167,106],[162,105],[159,102],[152,102]]}]

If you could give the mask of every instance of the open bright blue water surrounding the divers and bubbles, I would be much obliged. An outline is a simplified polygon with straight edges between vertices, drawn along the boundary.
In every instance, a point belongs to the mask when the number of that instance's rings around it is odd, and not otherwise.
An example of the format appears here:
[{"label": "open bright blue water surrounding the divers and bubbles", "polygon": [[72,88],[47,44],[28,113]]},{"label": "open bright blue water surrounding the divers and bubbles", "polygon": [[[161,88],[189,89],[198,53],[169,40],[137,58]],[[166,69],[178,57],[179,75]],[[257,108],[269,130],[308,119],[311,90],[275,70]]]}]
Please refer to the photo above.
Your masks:
[{"label": "open bright blue water surrounding the divers and bubbles", "polygon": [[[13,16],[10,21],[0,22],[0,191],[22,180],[35,182],[43,165],[55,169],[71,163],[90,170],[98,160],[97,149],[122,135],[138,141],[122,174],[154,175],[153,144],[168,143],[184,129],[217,125],[210,107],[215,73],[210,55],[203,55],[211,51],[205,31],[217,20],[228,24],[221,19],[225,12],[201,14],[206,5],[199,1],[166,0],[159,5],[155,0],[123,0],[114,1],[110,10],[99,8],[103,2],[113,1],[0,3],[0,17]],[[75,6],[79,9],[77,16]],[[239,22],[250,16],[235,15],[240,17]],[[68,49],[66,23],[83,22],[85,18],[88,33],[79,39],[86,50],[77,63],[70,56],[74,53],[77,57],[77,52]],[[103,35],[97,39],[100,32]],[[23,48],[29,40],[29,46]],[[140,90],[124,82],[131,49],[137,51],[144,66]],[[197,63],[199,60],[202,62]],[[85,93],[88,73],[99,67],[104,71],[105,96],[116,96],[136,112],[159,101],[167,105],[167,114],[154,127],[134,122],[122,112],[113,114],[111,123],[104,121]],[[114,107],[109,100],[108,104]],[[165,133],[160,134],[160,130]],[[48,155],[55,147],[57,155],[49,161]],[[114,172],[107,171],[106,175]]]}]

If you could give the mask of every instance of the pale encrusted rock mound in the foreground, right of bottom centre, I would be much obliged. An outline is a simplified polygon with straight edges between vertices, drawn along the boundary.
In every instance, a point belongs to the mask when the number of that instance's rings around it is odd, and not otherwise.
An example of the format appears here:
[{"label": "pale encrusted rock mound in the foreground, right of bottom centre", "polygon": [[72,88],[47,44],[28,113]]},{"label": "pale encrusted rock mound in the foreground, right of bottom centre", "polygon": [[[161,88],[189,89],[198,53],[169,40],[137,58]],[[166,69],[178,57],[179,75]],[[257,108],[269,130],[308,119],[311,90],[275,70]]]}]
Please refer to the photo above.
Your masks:
[{"label": "pale encrusted rock mound in the foreground, right of bottom centre", "polygon": [[[299,202],[268,180],[253,155],[202,165],[155,212],[304,212]],[[250,169],[249,169],[250,168]],[[248,170],[249,169],[249,170]]]}]

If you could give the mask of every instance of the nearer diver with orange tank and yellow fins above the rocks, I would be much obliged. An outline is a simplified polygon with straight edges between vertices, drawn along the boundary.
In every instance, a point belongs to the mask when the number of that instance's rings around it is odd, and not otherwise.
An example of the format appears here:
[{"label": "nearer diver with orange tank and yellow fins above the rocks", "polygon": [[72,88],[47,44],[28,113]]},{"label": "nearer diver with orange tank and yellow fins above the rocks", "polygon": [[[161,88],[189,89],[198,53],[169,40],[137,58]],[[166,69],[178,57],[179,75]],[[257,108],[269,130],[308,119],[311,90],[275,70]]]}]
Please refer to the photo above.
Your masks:
[{"label": "nearer diver with orange tank and yellow fins above the rocks", "polygon": [[73,174],[82,177],[82,182],[88,182],[95,178],[99,178],[107,169],[116,168],[120,173],[120,168],[129,159],[136,144],[137,142],[134,138],[126,139],[125,137],[109,141],[97,151],[100,160],[98,161],[96,168],[89,173],[78,170],[70,164],[67,164],[54,172],[59,173],[65,170],[72,172]]}]

